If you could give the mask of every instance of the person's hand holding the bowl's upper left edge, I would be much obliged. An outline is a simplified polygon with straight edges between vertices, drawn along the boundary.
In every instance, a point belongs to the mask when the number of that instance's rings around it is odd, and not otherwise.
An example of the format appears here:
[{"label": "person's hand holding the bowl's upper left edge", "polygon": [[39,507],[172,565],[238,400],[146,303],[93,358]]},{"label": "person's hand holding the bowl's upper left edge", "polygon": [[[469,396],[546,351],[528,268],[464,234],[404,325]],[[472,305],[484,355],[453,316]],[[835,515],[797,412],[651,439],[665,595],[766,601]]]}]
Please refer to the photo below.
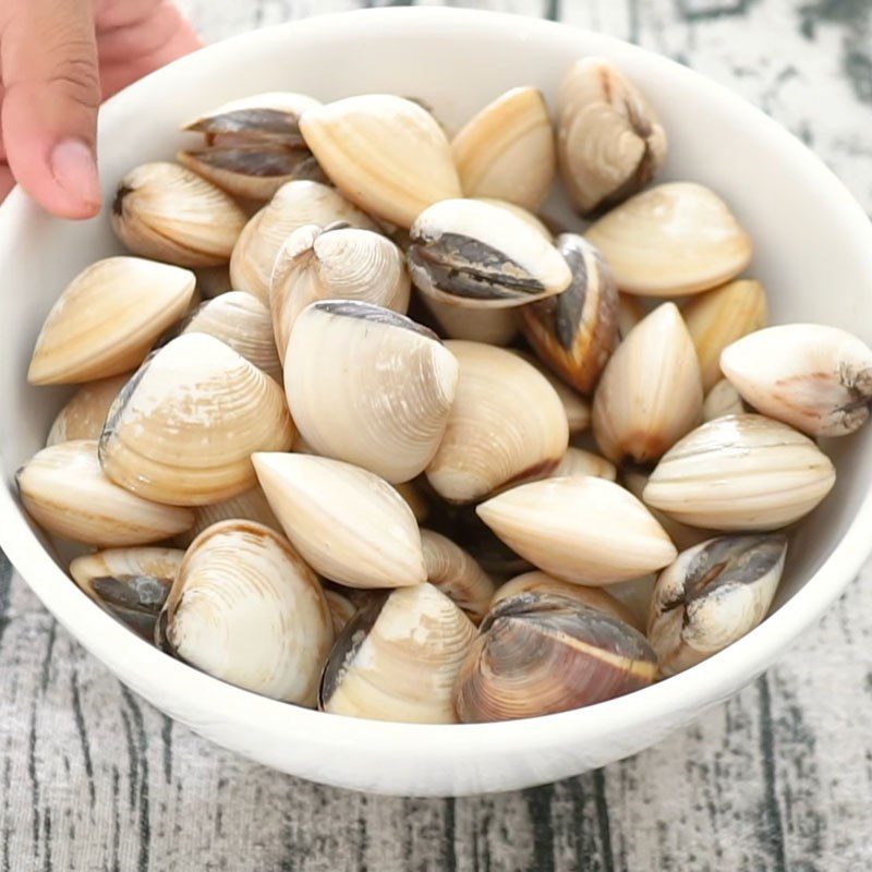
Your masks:
[{"label": "person's hand holding the bowl's upper left edge", "polygon": [[100,101],[198,45],[166,0],[0,0],[0,199],[96,215]]}]

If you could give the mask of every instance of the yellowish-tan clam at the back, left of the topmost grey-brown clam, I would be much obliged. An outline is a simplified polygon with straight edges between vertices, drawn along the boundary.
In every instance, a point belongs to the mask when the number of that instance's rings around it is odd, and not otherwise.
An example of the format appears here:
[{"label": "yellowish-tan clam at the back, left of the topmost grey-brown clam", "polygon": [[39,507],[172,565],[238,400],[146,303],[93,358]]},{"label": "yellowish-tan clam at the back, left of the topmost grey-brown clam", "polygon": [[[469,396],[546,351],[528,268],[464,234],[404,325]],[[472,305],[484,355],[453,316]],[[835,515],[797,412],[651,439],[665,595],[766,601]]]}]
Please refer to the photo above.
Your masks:
[{"label": "yellowish-tan clam at the back, left of the topmost grey-brown clam", "polygon": [[497,97],[455,136],[451,156],[468,197],[497,197],[535,211],[557,168],[542,92],[519,87]]}]

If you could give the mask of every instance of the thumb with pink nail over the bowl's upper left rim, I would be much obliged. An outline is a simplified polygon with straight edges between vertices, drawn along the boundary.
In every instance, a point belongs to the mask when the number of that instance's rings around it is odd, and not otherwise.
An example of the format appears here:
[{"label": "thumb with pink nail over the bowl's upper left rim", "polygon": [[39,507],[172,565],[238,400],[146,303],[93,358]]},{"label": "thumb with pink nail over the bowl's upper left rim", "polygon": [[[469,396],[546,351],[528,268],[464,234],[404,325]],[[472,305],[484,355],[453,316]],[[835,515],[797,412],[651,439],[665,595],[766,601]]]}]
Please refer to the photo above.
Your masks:
[{"label": "thumb with pink nail over the bowl's upper left rim", "polygon": [[90,0],[10,0],[0,46],[12,173],[55,215],[96,215],[100,83]]}]

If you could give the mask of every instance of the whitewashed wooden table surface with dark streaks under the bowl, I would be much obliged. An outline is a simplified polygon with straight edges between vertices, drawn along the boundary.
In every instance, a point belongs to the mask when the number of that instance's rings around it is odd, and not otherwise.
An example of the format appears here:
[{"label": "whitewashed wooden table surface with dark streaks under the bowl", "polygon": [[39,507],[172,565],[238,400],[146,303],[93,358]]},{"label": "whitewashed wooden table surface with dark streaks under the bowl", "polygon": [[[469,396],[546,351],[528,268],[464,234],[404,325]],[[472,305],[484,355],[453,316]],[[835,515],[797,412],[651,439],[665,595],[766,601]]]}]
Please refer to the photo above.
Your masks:
[{"label": "whitewashed wooden table surface with dark streaks under the bowl", "polygon": [[[209,40],[380,4],[182,2]],[[872,210],[870,0],[457,5],[559,17],[669,55],[800,135]],[[777,667],[635,758],[514,794],[414,800],[280,775],[171,723],[3,562],[0,870],[867,870],[871,585],[868,566]]]}]

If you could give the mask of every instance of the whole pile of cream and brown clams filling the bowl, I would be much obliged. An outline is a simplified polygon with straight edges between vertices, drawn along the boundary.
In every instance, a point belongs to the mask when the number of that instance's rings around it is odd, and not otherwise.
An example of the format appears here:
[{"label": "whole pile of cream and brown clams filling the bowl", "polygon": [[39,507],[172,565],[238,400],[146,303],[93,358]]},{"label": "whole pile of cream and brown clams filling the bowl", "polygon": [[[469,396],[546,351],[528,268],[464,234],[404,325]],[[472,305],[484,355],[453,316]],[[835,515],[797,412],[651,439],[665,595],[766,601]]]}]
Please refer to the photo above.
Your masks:
[{"label": "whole pile of cream and brown clams filling the bowl", "polygon": [[241,688],[424,723],[608,700],[763,620],[872,351],[766,327],[749,234],[652,183],[610,63],[554,110],[514,88],[449,137],[263,94],[120,181],[130,256],[49,313],[28,378],[80,387],[17,474],[83,591]]}]

